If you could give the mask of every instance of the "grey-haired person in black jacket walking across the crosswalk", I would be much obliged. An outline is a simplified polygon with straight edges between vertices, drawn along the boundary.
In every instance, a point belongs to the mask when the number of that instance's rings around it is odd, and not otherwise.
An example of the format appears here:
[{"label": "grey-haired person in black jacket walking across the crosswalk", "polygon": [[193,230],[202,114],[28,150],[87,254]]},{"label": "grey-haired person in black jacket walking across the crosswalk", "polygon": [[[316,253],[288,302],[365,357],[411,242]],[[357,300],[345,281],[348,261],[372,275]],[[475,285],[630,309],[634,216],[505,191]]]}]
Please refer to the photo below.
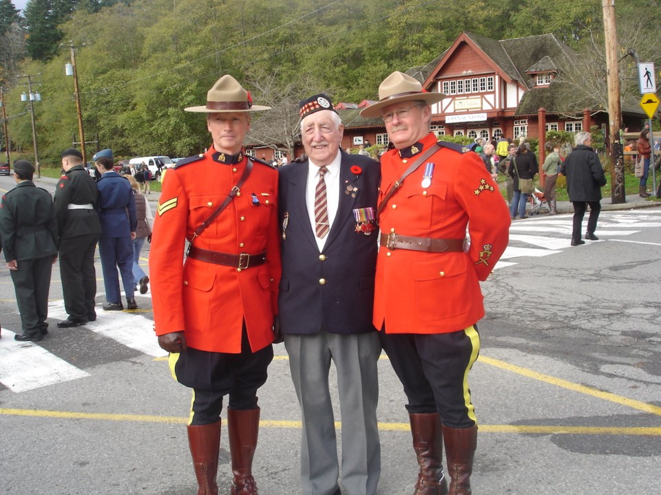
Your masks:
[{"label": "grey-haired person in black jacket walking across the crosswalk", "polygon": [[567,176],[567,194],[574,206],[574,230],[571,233],[571,245],[585,244],[580,238],[580,227],[587,205],[590,216],[587,219],[585,239],[597,241],[594,234],[597,219],[601,211],[601,187],[606,185],[604,168],[599,157],[592,150],[592,137],[589,132],[576,134],[576,148],[567,155],[560,172]]}]

